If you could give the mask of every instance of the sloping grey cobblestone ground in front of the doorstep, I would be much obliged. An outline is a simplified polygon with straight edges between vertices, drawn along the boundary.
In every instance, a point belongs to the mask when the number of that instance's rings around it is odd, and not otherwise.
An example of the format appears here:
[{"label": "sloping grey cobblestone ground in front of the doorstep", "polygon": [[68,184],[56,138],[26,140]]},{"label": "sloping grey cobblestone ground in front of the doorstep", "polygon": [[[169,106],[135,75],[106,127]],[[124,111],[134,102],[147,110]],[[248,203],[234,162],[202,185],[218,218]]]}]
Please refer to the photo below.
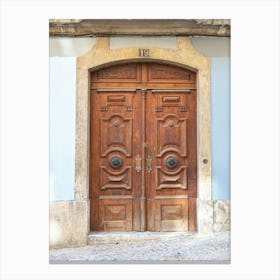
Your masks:
[{"label": "sloping grey cobblestone ground in front of the doorstep", "polygon": [[50,263],[229,263],[229,232],[160,240],[116,242],[50,251]]}]

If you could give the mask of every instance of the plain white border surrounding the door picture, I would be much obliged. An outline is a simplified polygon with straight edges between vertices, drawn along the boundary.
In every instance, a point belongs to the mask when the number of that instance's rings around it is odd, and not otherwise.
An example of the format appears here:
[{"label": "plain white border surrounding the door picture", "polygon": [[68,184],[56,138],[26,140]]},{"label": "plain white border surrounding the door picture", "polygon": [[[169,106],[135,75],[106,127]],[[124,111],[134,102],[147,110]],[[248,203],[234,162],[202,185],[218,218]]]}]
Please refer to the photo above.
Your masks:
[{"label": "plain white border surrounding the door picture", "polygon": [[[98,17],[232,19],[230,265],[48,264],[48,19]],[[1,279],[280,278],[278,1],[7,0],[0,18]]]}]

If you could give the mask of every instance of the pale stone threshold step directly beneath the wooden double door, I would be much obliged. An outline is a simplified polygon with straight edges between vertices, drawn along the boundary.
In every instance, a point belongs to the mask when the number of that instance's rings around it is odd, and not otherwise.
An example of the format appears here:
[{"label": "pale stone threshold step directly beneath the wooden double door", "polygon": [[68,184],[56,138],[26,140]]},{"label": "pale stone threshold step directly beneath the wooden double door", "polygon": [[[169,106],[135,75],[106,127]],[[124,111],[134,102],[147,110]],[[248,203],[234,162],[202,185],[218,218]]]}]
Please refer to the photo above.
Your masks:
[{"label": "pale stone threshold step directly beneath the wooden double door", "polygon": [[131,231],[131,232],[90,232],[88,235],[88,245],[112,244],[119,242],[137,242],[156,239],[168,239],[174,237],[193,236],[196,232],[151,232],[151,231]]}]

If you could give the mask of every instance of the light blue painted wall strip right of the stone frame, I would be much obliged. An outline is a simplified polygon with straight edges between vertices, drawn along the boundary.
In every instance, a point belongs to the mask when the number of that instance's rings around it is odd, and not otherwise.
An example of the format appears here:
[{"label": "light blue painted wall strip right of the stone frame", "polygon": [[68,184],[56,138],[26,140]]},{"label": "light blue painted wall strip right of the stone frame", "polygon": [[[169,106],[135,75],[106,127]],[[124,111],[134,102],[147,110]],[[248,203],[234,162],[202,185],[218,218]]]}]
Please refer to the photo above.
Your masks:
[{"label": "light blue painted wall strip right of the stone frame", "polygon": [[212,199],[230,199],[230,58],[211,58]]}]

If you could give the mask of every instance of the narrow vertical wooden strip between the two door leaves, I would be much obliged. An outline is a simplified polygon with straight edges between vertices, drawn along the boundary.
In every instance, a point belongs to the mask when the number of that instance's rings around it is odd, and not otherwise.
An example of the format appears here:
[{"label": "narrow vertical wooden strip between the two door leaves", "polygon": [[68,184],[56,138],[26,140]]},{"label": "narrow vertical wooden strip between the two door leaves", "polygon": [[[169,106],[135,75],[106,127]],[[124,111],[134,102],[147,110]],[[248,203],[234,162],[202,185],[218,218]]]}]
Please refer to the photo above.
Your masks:
[{"label": "narrow vertical wooden strip between the two door leaves", "polygon": [[146,181],[145,181],[145,146],[146,142],[146,89],[141,89],[141,150],[142,150],[142,173],[141,173],[141,197],[140,197],[140,231],[146,230]]}]

